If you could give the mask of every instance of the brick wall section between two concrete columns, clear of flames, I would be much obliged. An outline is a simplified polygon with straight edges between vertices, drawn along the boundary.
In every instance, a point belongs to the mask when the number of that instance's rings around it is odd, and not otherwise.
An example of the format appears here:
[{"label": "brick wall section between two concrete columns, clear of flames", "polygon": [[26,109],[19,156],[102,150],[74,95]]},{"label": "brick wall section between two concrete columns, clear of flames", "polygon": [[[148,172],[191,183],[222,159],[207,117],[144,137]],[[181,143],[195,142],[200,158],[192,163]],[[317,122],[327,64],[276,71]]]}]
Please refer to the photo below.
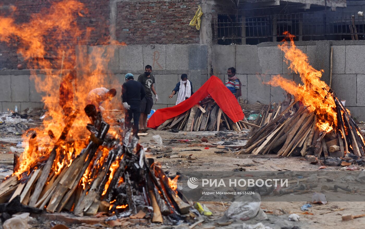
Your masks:
[{"label": "brick wall section between two concrete columns, clear of flames", "polygon": [[116,38],[127,45],[199,43],[189,26],[200,0],[122,1],[117,4]]}]

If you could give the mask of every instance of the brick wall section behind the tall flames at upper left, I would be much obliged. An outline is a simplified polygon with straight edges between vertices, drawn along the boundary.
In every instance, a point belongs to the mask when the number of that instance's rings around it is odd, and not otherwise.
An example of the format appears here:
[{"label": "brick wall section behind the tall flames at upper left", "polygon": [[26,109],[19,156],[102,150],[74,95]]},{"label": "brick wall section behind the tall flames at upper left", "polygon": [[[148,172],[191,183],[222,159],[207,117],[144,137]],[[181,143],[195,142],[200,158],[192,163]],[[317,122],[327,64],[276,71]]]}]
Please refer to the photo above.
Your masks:
[{"label": "brick wall section behind the tall flames at upper left", "polygon": [[[43,8],[49,8],[52,3],[57,3],[59,1],[60,0],[3,0],[0,3],[0,15],[12,15],[16,23],[27,23],[31,14],[38,13]],[[70,47],[74,47],[77,43],[85,45],[105,44],[109,39],[110,1],[79,1],[85,5],[86,9],[81,12],[84,16],[77,16],[76,20],[79,29],[82,31],[82,35],[77,38],[78,42],[74,42],[74,39],[71,39],[71,37],[68,37],[67,35],[59,42],[67,43]],[[72,34],[70,36],[72,36]],[[50,39],[54,39],[49,34],[45,34],[44,37],[46,42]],[[18,45],[16,37],[13,38],[11,43],[12,45],[7,45],[4,42],[0,42],[0,69],[17,69],[18,64],[22,64],[24,68],[34,68],[34,66],[29,66],[27,63],[24,63],[24,60],[16,53]],[[57,47],[47,46],[46,58],[55,58],[55,49],[57,49]],[[59,68],[59,66],[53,66],[53,68]]]}]

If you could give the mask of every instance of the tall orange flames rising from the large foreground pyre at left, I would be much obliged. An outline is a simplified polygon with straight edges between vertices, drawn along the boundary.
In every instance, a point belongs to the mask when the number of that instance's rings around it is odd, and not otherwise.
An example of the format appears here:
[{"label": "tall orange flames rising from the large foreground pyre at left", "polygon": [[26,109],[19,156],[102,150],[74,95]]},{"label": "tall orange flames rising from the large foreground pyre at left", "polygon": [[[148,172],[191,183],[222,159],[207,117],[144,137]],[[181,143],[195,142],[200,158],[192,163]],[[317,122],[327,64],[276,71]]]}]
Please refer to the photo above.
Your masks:
[{"label": "tall orange flames rising from the large foreground pyre at left", "polygon": [[[98,87],[110,89],[111,85],[117,91],[121,89],[118,79],[111,79],[109,75],[111,72],[108,70],[108,63],[111,58],[114,58],[114,52],[118,50],[115,46],[79,46],[80,49],[86,47],[87,50],[76,55],[76,45],[87,45],[93,30],[78,24],[80,21],[78,19],[87,14],[88,10],[83,3],[77,0],[62,0],[32,14],[26,23],[17,23],[13,18],[15,14],[8,17],[0,16],[0,42],[8,43],[10,46],[14,45],[14,40],[18,41],[16,46],[18,59],[22,61],[21,64],[24,67],[31,70],[30,79],[34,81],[37,92],[42,95],[42,102],[47,109],[42,126],[35,129],[36,141],[41,150],[38,152],[34,147],[27,147],[24,150],[18,165],[19,169],[14,173],[17,176],[23,172],[29,174],[41,158],[47,158],[55,141],[61,135],[65,127],[65,115],[69,114],[64,114],[59,106],[59,87],[62,80],[68,80],[66,76],[69,70],[75,67],[77,58],[80,62],[80,66],[77,65],[76,68],[78,75],[71,84],[74,93],[73,110],[79,109],[81,112],[77,115],[73,128],[68,134],[68,138],[73,139],[72,145],[65,142],[57,149],[53,172],[58,174],[62,168],[70,166],[73,159],[88,144],[85,139],[89,133],[85,126],[89,119],[82,112],[87,103],[88,92]],[[106,43],[105,41],[110,39],[106,36],[99,40],[100,43]],[[115,41],[111,43],[124,45]],[[83,53],[88,53],[88,56],[82,56]],[[110,103],[105,102],[103,107],[107,108],[111,104],[115,105],[113,108],[121,108],[118,97]],[[54,139],[50,139],[49,130],[53,132]],[[27,134],[24,134],[23,138],[24,141],[29,139]]]}]

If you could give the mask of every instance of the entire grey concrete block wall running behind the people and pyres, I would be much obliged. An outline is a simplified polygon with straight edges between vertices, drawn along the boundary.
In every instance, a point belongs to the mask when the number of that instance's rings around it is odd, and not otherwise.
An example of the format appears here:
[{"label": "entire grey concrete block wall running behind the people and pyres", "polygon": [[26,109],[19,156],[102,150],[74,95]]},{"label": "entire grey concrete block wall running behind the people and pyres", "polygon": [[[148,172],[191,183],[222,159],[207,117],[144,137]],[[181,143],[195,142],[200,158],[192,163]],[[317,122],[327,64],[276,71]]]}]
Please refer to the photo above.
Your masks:
[{"label": "entire grey concrete block wall running behind the people and pyres", "polygon": [[[227,68],[234,66],[242,82],[242,97],[249,103],[269,103],[284,99],[284,90],[267,82],[275,75],[281,75],[301,83],[300,77],[288,69],[284,54],[277,42],[258,45],[237,45],[212,47],[213,74],[222,81],[227,79]],[[310,64],[324,69],[322,79],[330,81],[330,50],[333,47],[332,88],[340,99],[346,100],[346,107],[353,117],[365,121],[365,41],[303,41],[296,45],[307,54]],[[171,107],[176,102],[168,96],[180,81],[183,73],[188,74],[196,91],[208,79],[208,47],[206,45],[135,45],[135,46],[78,46],[76,66],[91,63],[95,58],[110,56],[111,60],[101,63],[103,74],[110,86],[120,88],[124,75],[133,73],[136,78],[144,72],[144,66],[153,66],[155,88],[159,101],[154,109]],[[98,56],[99,55],[99,56]],[[90,73],[85,73],[90,74]],[[88,75],[90,76],[90,75]],[[29,70],[0,71],[0,110],[19,110],[27,107],[42,107],[41,95],[29,79]],[[118,82],[118,85],[115,85]]]}]

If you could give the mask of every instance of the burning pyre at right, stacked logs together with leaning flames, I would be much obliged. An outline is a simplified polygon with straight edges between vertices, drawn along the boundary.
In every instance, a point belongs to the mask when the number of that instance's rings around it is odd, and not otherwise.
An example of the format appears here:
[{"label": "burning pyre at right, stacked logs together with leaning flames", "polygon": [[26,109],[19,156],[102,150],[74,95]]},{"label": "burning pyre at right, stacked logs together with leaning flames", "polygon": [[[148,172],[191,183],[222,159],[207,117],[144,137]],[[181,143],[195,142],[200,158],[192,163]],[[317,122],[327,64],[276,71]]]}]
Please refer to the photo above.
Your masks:
[{"label": "burning pyre at right, stacked logs together with leaning flames", "polygon": [[[293,36],[286,34],[290,44],[278,47],[284,51],[289,68],[299,74],[303,85],[275,76],[269,83],[288,92],[280,104],[267,106],[241,153],[278,156],[314,155],[343,157],[353,153],[365,156],[364,136],[335,92],[320,80],[323,70],[314,69],[306,54],[297,49]],[[293,96],[294,98],[291,98]]]}]

